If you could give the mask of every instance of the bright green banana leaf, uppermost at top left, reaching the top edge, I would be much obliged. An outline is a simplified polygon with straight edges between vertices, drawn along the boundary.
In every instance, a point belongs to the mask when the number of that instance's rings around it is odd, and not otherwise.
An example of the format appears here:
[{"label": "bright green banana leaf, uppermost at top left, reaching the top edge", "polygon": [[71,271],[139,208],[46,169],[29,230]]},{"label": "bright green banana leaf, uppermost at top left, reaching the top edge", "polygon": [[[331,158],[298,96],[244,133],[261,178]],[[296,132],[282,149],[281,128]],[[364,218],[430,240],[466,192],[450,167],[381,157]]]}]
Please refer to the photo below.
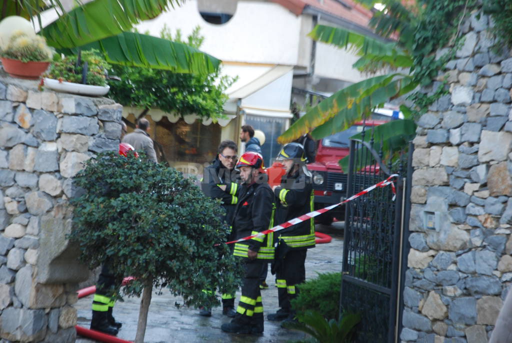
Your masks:
[{"label": "bright green banana leaf, uppermost at top left, reaching the top edge", "polygon": [[41,30],[48,45],[75,48],[115,36],[183,0],[95,0],[62,14]]}]

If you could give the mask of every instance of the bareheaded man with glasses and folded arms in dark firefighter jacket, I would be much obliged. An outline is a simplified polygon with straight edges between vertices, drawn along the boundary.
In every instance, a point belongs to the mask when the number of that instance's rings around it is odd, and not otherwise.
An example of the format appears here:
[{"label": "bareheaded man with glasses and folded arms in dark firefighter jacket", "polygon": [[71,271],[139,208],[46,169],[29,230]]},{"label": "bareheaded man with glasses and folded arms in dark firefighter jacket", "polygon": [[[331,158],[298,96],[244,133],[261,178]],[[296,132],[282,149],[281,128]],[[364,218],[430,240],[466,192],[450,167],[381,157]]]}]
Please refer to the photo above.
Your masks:
[{"label": "bareheaded man with glasses and folded arms in dark firefighter jacket", "polygon": [[[221,142],[217,157],[211,165],[204,169],[204,178],[201,183],[201,189],[206,196],[222,200],[222,208],[226,211],[222,219],[228,224],[233,220],[234,209],[238,202],[237,190],[240,187],[237,183],[238,172],[234,170],[238,160],[237,151],[237,145],[232,140]],[[230,193],[224,192],[218,185],[230,186]],[[199,314],[209,317],[211,309],[203,306]],[[234,317],[236,314],[234,312],[234,294],[222,294],[222,314],[228,317]]]}]

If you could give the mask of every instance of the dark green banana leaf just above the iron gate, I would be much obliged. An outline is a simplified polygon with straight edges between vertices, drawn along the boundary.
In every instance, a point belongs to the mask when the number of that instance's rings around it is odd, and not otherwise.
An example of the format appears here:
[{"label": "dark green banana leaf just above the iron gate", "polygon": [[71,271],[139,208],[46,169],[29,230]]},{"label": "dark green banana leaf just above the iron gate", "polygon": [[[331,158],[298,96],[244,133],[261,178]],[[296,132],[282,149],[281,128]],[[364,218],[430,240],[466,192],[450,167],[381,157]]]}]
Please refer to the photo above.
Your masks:
[{"label": "dark green banana leaf just above the iron gate", "polygon": [[[400,120],[392,120],[386,124],[382,124],[379,126],[375,126],[372,128],[372,134],[367,133],[364,136],[365,142],[370,142],[370,139],[374,139],[373,149],[377,152],[382,150],[385,152],[386,157],[389,158],[389,154],[395,151],[399,151],[407,147],[407,144],[416,136],[416,123],[412,119],[400,119]],[[351,139],[362,139],[362,134],[358,133],[352,137]],[[351,154],[358,154],[358,158],[362,157],[364,153],[364,149],[366,147],[362,147],[357,149],[356,151],[351,151]],[[366,153],[365,156],[370,154]],[[350,155],[345,156],[344,158],[339,160],[339,166],[342,167],[342,170],[348,171],[349,169],[349,159]],[[375,163],[375,159],[371,159],[370,163]]]}]

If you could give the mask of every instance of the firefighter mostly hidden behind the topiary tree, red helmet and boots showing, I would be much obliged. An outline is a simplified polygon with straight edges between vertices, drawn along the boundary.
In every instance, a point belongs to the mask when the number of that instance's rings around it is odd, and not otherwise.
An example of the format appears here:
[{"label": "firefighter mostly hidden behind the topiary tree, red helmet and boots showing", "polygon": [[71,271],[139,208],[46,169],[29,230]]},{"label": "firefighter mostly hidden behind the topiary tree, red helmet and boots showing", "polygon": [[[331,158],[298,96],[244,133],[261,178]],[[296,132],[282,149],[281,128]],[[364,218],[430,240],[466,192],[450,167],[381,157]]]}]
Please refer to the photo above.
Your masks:
[{"label": "firefighter mostly hidden behind the topiary tree, red helmet and boots showing", "polygon": [[[134,155],[139,156],[130,144],[119,144],[119,155],[126,157],[129,151],[134,151]],[[119,286],[119,280],[112,274],[108,261],[105,261],[101,266],[101,272],[96,283],[91,330],[117,335],[122,324],[114,319],[112,310],[115,304],[115,296],[113,295],[119,291]]]}]

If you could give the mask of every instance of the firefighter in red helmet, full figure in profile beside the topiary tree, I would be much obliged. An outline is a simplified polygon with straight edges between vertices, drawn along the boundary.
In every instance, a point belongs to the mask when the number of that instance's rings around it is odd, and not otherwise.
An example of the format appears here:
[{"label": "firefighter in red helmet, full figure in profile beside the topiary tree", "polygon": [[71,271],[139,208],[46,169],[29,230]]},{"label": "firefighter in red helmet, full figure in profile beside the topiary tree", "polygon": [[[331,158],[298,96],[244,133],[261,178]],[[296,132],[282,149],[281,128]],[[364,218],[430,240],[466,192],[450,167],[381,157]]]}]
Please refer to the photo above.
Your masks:
[{"label": "firefighter in red helmet, full figure in profile beside the topiary tree", "polygon": [[[241,189],[233,218],[234,239],[257,234],[273,225],[274,195],[262,177],[263,157],[246,152],[237,164],[245,186]],[[228,187],[223,187],[229,192]],[[221,329],[230,333],[263,333],[263,303],[259,276],[263,264],[274,258],[273,234],[234,244],[235,256],[244,260],[245,274],[237,315]]]}]

